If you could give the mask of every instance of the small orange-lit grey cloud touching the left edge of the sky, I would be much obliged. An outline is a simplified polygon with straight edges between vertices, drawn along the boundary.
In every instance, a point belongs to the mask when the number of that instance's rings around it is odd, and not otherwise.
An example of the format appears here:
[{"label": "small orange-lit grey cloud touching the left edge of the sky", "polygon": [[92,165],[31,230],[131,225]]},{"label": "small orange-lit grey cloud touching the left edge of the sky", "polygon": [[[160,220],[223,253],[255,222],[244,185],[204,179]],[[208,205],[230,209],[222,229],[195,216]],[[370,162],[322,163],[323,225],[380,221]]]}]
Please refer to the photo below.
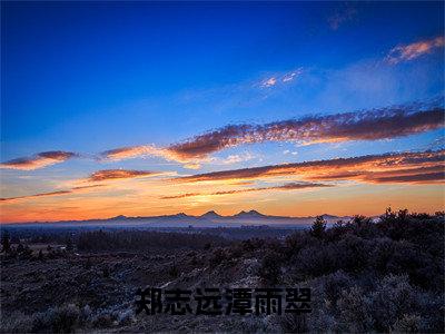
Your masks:
[{"label": "small orange-lit grey cloud touching the left edge of the sky", "polygon": [[70,158],[77,157],[78,154],[71,151],[52,150],[39,153],[33,157],[18,158],[0,164],[0,168],[33,170],[63,163]]}]

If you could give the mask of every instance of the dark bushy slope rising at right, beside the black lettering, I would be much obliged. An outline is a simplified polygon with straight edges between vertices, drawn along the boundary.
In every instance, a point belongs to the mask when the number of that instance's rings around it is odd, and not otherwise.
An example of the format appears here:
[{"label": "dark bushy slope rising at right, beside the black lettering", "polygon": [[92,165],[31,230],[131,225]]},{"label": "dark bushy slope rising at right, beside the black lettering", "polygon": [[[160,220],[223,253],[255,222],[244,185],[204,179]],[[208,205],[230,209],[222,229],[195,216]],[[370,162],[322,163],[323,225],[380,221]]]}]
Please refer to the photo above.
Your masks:
[{"label": "dark bushy slope rising at right, beside the black lettering", "polygon": [[443,213],[388,209],[376,223],[357,216],[327,229],[317,218],[286,239],[286,256],[264,252],[267,284],[314,289],[315,312],[286,316],[288,331],[444,331]]}]

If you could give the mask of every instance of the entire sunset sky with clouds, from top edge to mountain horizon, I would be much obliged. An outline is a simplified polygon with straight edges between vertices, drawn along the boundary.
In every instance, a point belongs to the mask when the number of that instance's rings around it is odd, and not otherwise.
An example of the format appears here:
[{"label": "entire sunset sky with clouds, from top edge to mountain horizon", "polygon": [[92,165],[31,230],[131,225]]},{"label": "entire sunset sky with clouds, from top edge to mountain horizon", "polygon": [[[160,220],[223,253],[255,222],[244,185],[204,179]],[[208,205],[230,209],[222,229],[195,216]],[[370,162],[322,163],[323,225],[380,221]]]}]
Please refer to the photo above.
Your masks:
[{"label": "entire sunset sky with clouds, from top edge to mountain horizon", "polygon": [[1,2],[0,222],[444,209],[443,2]]}]

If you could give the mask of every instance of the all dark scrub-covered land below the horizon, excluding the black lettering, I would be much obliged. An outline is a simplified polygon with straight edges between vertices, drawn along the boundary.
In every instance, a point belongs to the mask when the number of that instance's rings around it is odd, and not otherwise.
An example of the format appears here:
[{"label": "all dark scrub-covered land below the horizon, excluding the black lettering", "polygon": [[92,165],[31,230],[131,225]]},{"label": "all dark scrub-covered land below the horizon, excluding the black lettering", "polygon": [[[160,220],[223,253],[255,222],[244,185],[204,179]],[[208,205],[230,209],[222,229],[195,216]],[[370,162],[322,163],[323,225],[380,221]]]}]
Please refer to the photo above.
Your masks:
[{"label": "all dark scrub-covered land below the horizon, excluding the black lettering", "polygon": [[[217,228],[3,233],[1,332],[177,330],[135,317],[132,292],[182,284],[313,291],[310,314],[182,317],[185,331],[443,333],[444,227],[444,213],[388,209],[379,219],[328,225],[317,217],[305,230],[250,239],[228,240]],[[21,284],[27,288],[17,289]]]}]

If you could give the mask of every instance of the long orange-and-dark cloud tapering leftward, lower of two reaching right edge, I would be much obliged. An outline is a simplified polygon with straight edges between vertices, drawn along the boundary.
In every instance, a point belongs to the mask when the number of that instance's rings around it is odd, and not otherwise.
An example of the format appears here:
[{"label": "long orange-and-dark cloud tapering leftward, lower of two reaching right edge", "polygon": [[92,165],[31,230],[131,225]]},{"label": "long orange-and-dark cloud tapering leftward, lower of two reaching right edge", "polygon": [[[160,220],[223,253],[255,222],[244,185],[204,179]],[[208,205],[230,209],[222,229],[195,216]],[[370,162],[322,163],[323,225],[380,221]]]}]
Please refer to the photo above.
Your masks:
[{"label": "long orange-and-dark cloud tapering leftward, lower of two reaching right edge", "polygon": [[[444,170],[445,150],[428,150],[233,169],[186,176],[172,180],[199,183],[293,177],[313,181],[437,183],[444,181]],[[425,174],[431,175],[422,178],[422,175]],[[436,178],[433,178],[434,176]]]}]

